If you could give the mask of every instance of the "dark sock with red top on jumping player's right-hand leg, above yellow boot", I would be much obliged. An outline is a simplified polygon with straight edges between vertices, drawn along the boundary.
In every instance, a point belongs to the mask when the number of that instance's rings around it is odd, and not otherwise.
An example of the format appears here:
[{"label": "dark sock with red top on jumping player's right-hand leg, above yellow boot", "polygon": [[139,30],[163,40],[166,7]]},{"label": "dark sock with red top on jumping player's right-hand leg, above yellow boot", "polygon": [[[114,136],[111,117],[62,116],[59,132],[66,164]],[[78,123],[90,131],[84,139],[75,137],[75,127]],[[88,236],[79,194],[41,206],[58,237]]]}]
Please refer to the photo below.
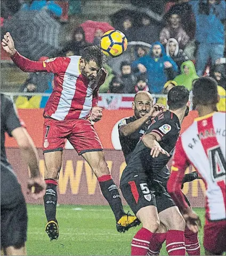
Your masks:
[{"label": "dark sock with red top on jumping player's right-hand leg, above yellow boot", "polygon": [[108,201],[108,204],[115,215],[116,221],[118,221],[125,214],[118,187],[112,180],[111,175],[103,175],[98,177],[98,181],[101,192],[104,198]]}]

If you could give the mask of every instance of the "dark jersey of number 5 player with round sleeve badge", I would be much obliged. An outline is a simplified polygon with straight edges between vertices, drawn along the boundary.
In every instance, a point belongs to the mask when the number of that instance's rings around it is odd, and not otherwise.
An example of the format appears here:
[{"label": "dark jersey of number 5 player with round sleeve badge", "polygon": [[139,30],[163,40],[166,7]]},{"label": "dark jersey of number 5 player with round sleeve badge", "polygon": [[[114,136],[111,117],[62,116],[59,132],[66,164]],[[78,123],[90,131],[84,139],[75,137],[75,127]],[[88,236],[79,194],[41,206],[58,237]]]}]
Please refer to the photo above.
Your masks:
[{"label": "dark jersey of number 5 player with round sleeve badge", "polygon": [[[173,150],[180,133],[180,122],[177,116],[170,112],[165,111],[157,115],[148,127],[146,134],[151,131],[157,133],[162,141],[159,142],[160,146],[172,156]],[[142,140],[136,145],[130,161],[123,171],[121,184],[132,181],[135,175],[140,173],[146,174],[150,180],[160,180],[161,182],[168,178],[169,173],[165,172],[167,168],[164,166],[170,160],[165,154],[159,154],[157,158],[150,156],[150,149],[147,148]]]}]

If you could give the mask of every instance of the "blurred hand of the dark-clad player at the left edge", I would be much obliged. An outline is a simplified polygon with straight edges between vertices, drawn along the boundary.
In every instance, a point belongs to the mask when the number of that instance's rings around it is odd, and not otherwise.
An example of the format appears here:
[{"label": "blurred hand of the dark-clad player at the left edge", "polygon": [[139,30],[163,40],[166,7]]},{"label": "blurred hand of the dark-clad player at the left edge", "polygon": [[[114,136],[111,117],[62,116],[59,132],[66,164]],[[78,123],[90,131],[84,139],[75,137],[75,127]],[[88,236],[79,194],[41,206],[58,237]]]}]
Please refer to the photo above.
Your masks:
[{"label": "blurred hand of the dark-clad player at the left edge", "polygon": [[28,191],[34,199],[43,198],[45,195],[46,184],[41,176],[30,178],[27,185]]}]

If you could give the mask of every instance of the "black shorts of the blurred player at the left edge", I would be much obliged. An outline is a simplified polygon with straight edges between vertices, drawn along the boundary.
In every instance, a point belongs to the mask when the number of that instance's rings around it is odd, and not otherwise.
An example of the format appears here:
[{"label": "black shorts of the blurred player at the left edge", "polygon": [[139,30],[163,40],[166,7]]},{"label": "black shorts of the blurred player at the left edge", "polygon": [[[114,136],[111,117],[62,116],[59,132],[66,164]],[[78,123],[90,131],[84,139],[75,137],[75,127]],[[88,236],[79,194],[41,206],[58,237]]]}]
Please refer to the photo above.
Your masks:
[{"label": "black shorts of the blurred player at the left edge", "polygon": [[1,206],[1,249],[20,248],[27,240],[27,207],[25,199],[12,207]]}]

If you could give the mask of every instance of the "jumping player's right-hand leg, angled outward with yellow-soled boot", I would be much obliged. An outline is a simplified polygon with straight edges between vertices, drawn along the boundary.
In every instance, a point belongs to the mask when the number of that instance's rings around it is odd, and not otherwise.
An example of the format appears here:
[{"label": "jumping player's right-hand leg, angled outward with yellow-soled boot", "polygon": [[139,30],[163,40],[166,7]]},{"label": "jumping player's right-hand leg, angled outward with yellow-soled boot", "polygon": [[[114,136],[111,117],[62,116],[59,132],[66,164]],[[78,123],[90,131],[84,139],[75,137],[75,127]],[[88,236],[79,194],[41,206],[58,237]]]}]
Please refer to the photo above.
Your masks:
[{"label": "jumping player's right-hand leg, angled outward with yellow-soled boot", "polygon": [[82,156],[98,178],[101,192],[114,212],[117,230],[125,232],[129,228],[137,226],[140,223],[138,219],[128,213],[126,214],[123,210],[118,187],[110,175],[103,151],[87,151],[82,153]]}]

